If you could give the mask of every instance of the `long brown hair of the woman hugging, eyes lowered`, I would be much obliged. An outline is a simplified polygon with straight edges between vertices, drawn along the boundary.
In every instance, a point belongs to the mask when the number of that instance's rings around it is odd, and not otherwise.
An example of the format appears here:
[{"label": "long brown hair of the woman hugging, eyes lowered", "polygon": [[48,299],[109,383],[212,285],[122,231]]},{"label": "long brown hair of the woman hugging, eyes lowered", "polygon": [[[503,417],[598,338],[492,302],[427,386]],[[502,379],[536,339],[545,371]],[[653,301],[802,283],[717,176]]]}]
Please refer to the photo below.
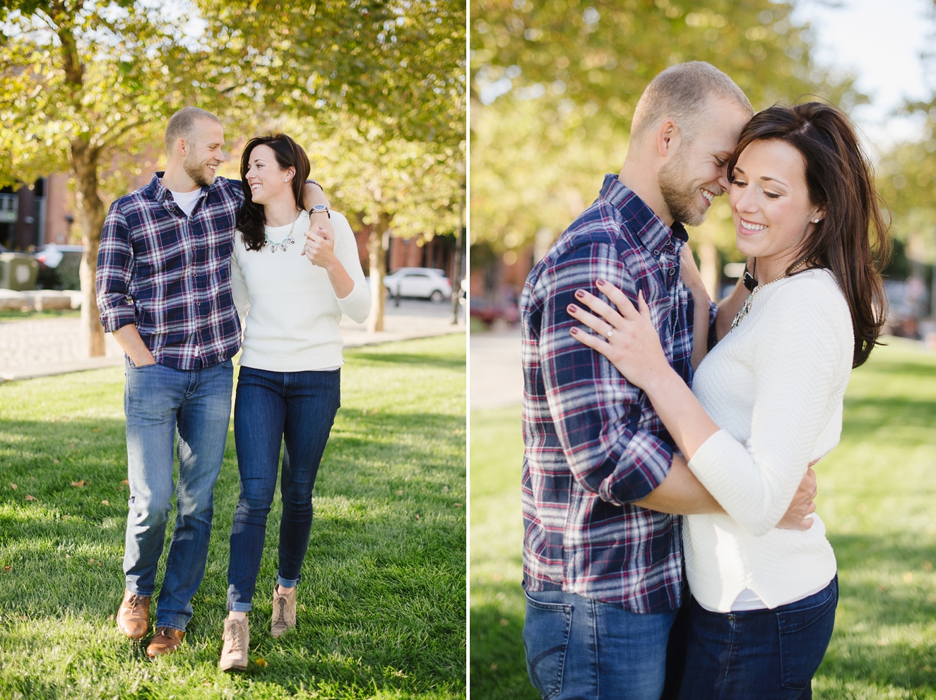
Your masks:
[{"label": "long brown hair of the woman hugging, eyes lowered", "polygon": [[729,182],[735,181],[741,152],[753,141],[768,140],[789,143],[803,156],[810,201],[826,210],[787,274],[804,261],[832,271],[852,314],[852,367],[858,367],[880,344],[887,316],[881,270],[891,252],[870,161],[840,109],[821,102],[774,106],[755,114],[741,131],[728,160]]}]

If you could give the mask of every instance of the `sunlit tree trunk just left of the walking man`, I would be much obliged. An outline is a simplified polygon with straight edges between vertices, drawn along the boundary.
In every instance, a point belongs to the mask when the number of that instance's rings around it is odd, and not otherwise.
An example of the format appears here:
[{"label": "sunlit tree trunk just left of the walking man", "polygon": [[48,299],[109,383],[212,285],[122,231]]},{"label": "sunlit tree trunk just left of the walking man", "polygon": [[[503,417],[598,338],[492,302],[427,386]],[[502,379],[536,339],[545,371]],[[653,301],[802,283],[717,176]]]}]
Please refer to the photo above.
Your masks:
[{"label": "sunlit tree trunk just left of the walking man", "polygon": [[104,202],[97,195],[98,153],[81,140],[71,142],[71,166],[75,172],[75,205],[81,230],[81,255],[79,270],[81,280],[81,330],[88,357],[104,355],[104,328],[97,320],[97,297],[95,275],[97,273],[97,249],[101,244],[101,229],[104,227]]}]

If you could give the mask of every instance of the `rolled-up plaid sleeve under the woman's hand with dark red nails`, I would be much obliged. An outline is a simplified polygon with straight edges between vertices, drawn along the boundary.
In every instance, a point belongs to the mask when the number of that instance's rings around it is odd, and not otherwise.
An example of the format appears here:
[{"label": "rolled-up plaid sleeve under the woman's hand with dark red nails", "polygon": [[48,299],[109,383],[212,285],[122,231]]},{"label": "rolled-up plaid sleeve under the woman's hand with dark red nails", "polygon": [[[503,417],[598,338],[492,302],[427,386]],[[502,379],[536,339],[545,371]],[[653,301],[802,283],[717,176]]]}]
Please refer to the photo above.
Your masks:
[{"label": "rolled-up plaid sleeve under the woman's hand with dark red nails", "polygon": [[573,249],[542,275],[540,360],[549,412],[572,474],[582,488],[620,505],[639,501],[663,482],[673,450],[642,427],[644,411],[652,409],[640,389],[569,333],[578,321],[566,307],[577,289],[595,291],[598,278],[636,304],[636,285],[613,246]]}]

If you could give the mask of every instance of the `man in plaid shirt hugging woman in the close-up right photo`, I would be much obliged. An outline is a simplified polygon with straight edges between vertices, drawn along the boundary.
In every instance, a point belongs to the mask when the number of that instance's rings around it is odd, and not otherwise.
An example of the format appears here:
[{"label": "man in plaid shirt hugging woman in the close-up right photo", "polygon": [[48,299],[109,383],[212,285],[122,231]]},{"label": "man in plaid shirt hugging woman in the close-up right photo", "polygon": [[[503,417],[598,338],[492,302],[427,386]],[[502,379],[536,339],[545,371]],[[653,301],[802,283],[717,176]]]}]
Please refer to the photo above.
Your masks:
[{"label": "man in plaid shirt hugging woman in the close-up right photo", "polygon": [[523,640],[544,697],[663,693],[683,596],[680,517],[669,514],[722,509],[674,460],[646,396],[570,336],[577,323],[566,309],[578,289],[597,293],[597,279],[635,305],[641,290],[667,358],[691,382],[693,347],[697,364],[716,307],[694,305],[693,296],[708,299],[697,272],[692,293],[680,276],[680,258],[691,259],[682,225],[700,224],[727,191],[725,163],[752,115],[715,67],[667,68],[640,97],[621,173],[605,176],[599,197],[527,278]]}]

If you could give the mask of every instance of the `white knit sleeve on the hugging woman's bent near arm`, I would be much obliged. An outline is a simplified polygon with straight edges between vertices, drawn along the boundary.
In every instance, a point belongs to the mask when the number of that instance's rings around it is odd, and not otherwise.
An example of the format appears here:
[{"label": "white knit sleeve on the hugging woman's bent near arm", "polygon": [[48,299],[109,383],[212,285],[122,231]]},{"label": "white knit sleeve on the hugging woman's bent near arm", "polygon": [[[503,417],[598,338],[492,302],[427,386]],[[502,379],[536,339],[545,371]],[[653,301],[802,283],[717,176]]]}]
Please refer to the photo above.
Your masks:
[{"label": "white knit sleeve on the hugging woman's bent near arm", "polygon": [[753,535],[767,534],[786,513],[841,403],[851,318],[835,293],[826,284],[788,284],[767,299],[752,329],[750,439],[745,445],[718,430],[689,461],[725,512]]}]

